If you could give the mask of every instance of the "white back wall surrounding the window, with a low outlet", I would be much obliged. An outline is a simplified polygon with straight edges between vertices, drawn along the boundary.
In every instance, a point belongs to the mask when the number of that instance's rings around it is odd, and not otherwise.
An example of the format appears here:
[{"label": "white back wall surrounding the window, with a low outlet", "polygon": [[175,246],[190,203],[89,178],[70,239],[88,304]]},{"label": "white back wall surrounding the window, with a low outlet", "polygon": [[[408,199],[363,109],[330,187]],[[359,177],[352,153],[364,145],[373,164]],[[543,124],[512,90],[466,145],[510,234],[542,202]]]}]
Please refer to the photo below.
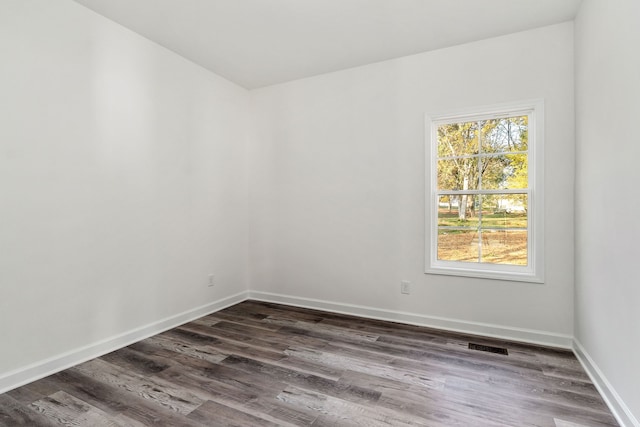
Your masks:
[{"label": "white back wall surrounding the window, with a low outlet", "polygon": [[[565,23],[253,91],[250,288],[571,336],[572,58]],[[425,275],[424,114],[534,98],[546,283]]]}]

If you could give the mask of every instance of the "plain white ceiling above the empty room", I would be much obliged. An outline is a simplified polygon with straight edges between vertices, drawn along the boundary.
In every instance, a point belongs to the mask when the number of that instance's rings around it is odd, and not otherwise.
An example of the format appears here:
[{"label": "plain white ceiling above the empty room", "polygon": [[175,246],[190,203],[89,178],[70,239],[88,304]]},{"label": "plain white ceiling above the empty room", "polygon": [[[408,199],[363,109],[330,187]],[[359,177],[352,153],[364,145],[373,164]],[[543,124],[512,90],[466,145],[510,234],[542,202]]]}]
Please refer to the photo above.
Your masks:
[{"label": "plain white ceiling above the empty room", "polygon": [[75,0],[248,89],[573,19],[581,0]]}]

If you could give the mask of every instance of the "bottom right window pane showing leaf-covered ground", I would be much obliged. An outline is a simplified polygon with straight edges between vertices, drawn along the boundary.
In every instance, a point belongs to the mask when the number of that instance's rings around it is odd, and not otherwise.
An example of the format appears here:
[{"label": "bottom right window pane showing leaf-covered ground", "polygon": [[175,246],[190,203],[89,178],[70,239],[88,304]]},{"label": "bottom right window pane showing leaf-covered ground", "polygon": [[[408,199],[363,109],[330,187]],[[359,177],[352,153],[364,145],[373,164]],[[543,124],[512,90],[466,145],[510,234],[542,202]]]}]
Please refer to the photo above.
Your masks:
[{"label": "bottom right window pane showing leaf-covered ground", "polygon": [[527,232],[483,230],[482,262],[527,265]]}]

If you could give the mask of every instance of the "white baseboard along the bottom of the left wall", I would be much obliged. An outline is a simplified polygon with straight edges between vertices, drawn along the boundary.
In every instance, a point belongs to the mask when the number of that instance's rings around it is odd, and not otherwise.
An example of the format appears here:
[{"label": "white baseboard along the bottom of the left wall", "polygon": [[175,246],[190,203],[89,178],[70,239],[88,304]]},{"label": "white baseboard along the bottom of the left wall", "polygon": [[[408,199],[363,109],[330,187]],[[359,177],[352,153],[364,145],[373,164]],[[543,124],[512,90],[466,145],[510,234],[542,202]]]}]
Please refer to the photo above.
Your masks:
[{"label": "white baseboard along the bottom of the left wall", "polygon": [[247,299],[247,295],[248,292],[240,292],[3,374],[0,376],[0,394],[242,302]]}]

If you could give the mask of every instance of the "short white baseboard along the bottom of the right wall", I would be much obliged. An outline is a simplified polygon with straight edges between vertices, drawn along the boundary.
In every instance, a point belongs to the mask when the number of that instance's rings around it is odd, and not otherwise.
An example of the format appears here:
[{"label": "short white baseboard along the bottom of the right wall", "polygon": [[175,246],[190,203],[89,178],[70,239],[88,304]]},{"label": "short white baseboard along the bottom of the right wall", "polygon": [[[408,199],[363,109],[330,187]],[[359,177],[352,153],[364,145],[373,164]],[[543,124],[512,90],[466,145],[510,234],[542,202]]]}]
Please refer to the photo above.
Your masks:
[{"label": "short white baseboard along the bottom of the right wall", "polygon": [[587,371],[591,382],[593,382],[598,389],[600,396],[602,396],[611,412],[613,412],[618,423],[622,427],[640,427],[638,419],[631,413],[629,407],[624,403],[591,356],[589,356],[589,353],[587,353],[580,341],[575,338],[573,340],[573,352],[582,364],[584,370]]}]

